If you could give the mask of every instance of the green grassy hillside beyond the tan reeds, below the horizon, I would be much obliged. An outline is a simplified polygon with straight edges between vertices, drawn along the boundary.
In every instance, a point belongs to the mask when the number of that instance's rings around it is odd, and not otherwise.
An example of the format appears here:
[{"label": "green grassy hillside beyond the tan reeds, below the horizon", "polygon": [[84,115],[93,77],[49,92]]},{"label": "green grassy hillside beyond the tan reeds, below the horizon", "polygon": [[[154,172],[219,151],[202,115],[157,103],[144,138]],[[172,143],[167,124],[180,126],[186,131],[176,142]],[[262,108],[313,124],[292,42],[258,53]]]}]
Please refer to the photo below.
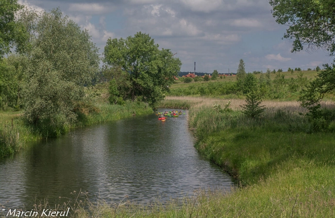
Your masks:
[{"label": "green grassy hillside beyond the tan reeds, below the horizon", "polygon": [[[284,81],[280,75],[284,76]],[[262,98],[267,100],[289,101],[297,100],[302,87],[317,76],[316,71],[301,71],[301,72],[280,72],[270,73],[270,80],[264,76],[259,80],[260,76],[265,74],[254,74]],[[172,84],[170,87],[169,96],[206,96],[220,98],[244,98],[243,89],[238,86],[236,76],[227,78],[218,78],[217,80],[209,81],[192,81],[190,83],[179,82]],[[327,96],[333,100],[334,96]]]}]

